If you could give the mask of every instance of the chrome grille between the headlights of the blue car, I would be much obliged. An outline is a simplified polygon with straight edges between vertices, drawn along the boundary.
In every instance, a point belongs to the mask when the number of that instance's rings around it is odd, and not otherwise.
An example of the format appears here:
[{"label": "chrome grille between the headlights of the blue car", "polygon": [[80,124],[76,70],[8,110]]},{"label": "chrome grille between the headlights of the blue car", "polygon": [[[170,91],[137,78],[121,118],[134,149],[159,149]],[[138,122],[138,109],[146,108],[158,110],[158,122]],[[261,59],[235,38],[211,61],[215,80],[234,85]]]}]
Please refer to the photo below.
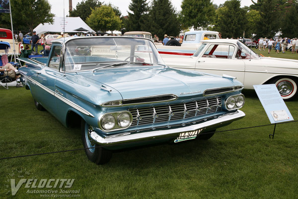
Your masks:
[{"label": "chrome grille between the headlights of the blue car", "polygon": [[221,109],[222,98],[218,97],[190,101],[187,103],[132,108],[129,109],[129,111],[133,115],[133,123],[131,126],[139,126],[157,122],[182,120],[199,115],[214,113],[220,111]]}]

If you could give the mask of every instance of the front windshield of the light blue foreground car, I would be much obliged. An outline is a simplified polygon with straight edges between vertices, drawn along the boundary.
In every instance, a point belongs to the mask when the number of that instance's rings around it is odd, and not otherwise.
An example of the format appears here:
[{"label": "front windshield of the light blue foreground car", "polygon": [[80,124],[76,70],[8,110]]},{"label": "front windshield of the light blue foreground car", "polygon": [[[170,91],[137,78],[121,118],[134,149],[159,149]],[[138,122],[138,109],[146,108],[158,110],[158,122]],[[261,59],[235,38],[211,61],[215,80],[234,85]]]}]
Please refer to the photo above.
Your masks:
[{"label": "front windshield of the light blue foreground car", "polygon": [[148,39],[89,37],[66,43],[66,72],[153,64],[164,65],[154,44]]}]

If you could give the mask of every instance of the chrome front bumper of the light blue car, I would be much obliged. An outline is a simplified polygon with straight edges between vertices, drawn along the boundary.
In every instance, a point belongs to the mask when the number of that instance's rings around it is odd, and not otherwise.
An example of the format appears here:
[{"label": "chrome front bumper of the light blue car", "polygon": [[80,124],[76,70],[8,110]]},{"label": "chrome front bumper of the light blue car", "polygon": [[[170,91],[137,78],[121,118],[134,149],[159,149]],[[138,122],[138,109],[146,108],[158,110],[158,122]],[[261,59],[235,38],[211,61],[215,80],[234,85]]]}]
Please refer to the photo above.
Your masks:
[{"label": "chrome front bumper of the light blue car", "polygon": [[169,128],[166,130],[155,130],[155,131],[145,131],[139,133],[121,133],[118,135],[111,135],[107,137],[101,137],[95,131],[91,131],[89,137],[93,139],[97,144],[101,146],[113,146],[117,144],[126,144],[140,141],[154,141],[158,139],[165,138],[174,138],[178,137],[179,133],[195,131],[198,129],[202,129],[204,131],[209,131],[215,128],[219,128],[225,126],[232,121],[237,119],[241,119],[245,116],[245,113],[241,110],[237,110],[236,112],[224,114],[218,118],[202,122],[199,124],[193,124],[190,126],[184,126],[180,128]]}]

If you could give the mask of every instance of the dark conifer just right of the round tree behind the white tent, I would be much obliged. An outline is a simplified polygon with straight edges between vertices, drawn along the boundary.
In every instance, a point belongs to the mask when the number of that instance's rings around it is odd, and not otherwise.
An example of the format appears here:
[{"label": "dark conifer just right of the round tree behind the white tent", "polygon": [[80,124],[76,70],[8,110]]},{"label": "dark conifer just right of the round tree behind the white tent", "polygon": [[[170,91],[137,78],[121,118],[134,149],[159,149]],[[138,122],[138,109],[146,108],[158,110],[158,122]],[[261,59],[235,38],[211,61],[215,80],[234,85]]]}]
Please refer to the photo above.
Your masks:
[{"label": "dark conifer just right of the round tree behind the white tent", "polygon": [[125,20],[126,31],[146,31],[146,21],[148,20],[147,0],[132,0],[128,8],[128,20]]}]

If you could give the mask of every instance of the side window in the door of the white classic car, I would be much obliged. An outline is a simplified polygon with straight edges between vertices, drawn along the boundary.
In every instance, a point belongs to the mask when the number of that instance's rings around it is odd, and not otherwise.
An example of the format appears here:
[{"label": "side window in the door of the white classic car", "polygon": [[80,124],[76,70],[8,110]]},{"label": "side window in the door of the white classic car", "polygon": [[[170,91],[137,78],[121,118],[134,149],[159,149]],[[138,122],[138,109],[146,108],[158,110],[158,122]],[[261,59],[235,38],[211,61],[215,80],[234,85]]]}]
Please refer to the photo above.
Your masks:
[{"label": "side window in the door of the white classic car", "polygon": [[212,44],[207,48],[203,57],[231,59],[234,51],[235,51],[235,47],[231,45]]}]

